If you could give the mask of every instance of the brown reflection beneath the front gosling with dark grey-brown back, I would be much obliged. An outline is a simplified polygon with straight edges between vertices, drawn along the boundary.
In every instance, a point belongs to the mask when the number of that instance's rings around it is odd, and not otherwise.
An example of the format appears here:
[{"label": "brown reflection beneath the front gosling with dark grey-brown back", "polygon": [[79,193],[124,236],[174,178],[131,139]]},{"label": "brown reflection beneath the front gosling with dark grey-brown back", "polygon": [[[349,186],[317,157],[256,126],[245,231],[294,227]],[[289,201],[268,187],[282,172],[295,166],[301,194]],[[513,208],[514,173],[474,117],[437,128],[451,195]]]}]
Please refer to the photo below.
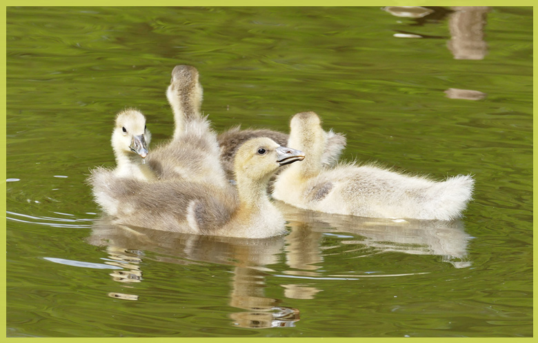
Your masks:
[{"label": "brown reflection beneath the front gosling with dark grey-brown back", "polygon": [[[112,225],[108,217],[94,222],[90,244],[106,246],[106,263],[121,266],[111,273],[112,280],[123,284],[143,281],[142,259],[174,264],[210,262],[235,266],[231,281],[230,306],[241,308],[230,314],[235,326],[271,328],[295,326],[299,310],[282,306],[281,300],[265,296],[266,277],[272,272],[267,266],[279,262],[284,236],[266,239],[246,239],[189,235],[156,231],[148,228]],[[152,257],[141,251],[154,251]],[[138,300],[134,294],[109,293],[122,300]]]}]

